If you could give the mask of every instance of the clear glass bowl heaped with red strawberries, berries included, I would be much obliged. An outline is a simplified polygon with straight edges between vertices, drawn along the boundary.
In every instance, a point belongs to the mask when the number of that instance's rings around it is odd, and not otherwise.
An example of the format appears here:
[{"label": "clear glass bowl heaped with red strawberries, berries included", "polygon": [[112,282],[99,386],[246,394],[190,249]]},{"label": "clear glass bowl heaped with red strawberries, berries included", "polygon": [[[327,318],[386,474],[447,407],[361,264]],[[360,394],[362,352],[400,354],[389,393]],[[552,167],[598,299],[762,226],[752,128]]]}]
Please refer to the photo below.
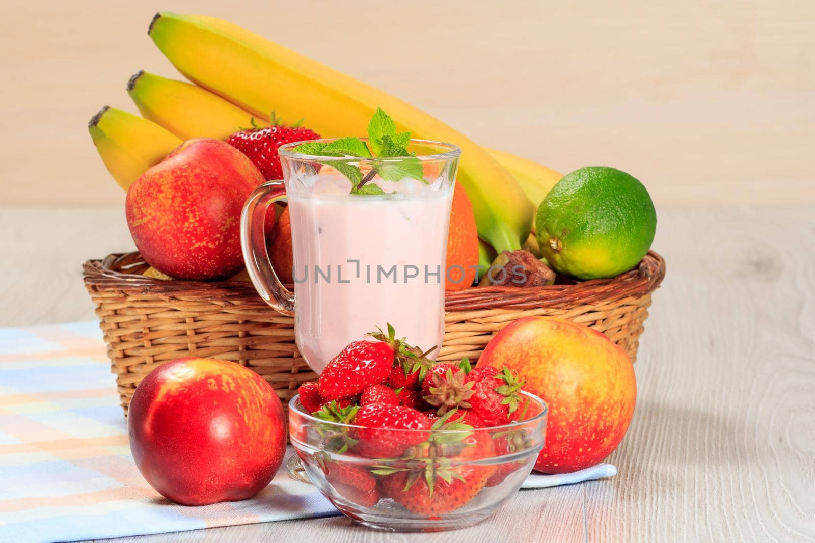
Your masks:
[{"label": "clear glass bowl heaped with red strawberries, berries included", "polygon": [[350,344],[289,401],[306,475],[371,528],[432,532],[486,519],[532,470],[546,404],[508,369],[435,363],[393,333],[373,338]]}]

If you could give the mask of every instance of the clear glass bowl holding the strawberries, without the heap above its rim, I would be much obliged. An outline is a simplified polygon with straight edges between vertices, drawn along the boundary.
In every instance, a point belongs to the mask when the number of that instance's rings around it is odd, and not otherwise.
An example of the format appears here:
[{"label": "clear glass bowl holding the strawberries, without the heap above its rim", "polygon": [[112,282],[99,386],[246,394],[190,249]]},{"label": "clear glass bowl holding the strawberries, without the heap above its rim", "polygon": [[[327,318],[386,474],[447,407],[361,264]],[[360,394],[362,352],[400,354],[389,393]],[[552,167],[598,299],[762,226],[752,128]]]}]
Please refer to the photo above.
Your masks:
[{"label": "clear glass bowl holding the strawberries, without the heap above its rim", "polygon": [[[522,421],[469,430],[372,430],[289,401],[289,436],[311,482],[370,528],[435,532],[486,519],[521,488],[544,447],[547,408],[522,392]],[[450,420],[456,419],[453,415]],[[375,457],[390,450],[387,457]]]}]

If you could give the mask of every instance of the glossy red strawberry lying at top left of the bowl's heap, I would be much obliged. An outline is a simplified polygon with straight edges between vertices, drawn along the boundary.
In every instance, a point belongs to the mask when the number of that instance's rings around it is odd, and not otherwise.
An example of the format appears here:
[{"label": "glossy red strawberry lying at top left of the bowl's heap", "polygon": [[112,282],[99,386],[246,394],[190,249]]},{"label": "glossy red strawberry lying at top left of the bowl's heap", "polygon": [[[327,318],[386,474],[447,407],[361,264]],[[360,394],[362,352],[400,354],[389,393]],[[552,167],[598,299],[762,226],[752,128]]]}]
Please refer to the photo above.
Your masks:
[{"label": "glossy red strawberry lying at top left of the bowl's heap", "polygon": [[359,395],[367,386],[385,382],[394,365],[394,348],[385,342],[351,342],[331,359],[319,376],[324,400]]}]

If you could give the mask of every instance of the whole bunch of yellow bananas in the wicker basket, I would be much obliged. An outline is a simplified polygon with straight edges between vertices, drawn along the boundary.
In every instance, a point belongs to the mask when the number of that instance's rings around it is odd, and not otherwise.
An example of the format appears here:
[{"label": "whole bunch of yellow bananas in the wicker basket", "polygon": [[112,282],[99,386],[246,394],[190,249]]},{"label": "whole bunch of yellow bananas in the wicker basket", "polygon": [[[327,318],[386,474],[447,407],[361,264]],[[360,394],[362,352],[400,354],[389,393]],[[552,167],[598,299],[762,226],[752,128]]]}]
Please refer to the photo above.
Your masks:
[{"label": "whole bunch of yellow bananas in the wicker basket", "polygon": [[[192,137],[225,139],[252,126],[252,117],[268,119],[271,111],[289,119],[305,117],[309,128],[324,137],[363,134],[381,107],[399,130],[410,130],[415,138],[460,146],[458,179],[473,203],[478,234],[499,252],[526,242],[535,207],[560,179],[535,162],[482,148],[427,113],[234,24],[162,11],[148,32],[175,67],[197,83],[139,72],[128,84],[144,122],[169,130],[178,138],[175,145]],[[144,137],[146,129],[131,124],[122,122],[121,130],[132,128],[130,155],[150,157],[141,164],[146,170],[154,157],[166,154],[167,138]],[[119,183],[132,183],[130,172],[137,168],[125,174],[118,166],[123,158],[106,157],[108,151],[97,147]]]}]

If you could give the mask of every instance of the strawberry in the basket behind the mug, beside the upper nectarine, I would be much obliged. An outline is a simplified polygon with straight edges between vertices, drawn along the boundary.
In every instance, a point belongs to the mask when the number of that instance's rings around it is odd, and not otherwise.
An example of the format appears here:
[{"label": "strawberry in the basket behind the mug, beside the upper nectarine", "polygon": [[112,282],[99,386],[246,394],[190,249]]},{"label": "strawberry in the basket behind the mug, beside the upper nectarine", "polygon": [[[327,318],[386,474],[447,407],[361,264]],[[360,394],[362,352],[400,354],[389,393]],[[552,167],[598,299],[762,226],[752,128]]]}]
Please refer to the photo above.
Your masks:
[{"label": "strawberry in the basket behind the mug, beside the upper nectarine", "polygon": [[277,124],[274,113],[271,118],[272,126],[255,126],[235,132],[227,138],[227,143],[244,153],[255,166],[258,166],[258,170],[267,181],[283,179],[283,168],[277,154],[277,149],[281,145],[306,139],[319,139],[319,134],[314,130],[302,126]]}]

